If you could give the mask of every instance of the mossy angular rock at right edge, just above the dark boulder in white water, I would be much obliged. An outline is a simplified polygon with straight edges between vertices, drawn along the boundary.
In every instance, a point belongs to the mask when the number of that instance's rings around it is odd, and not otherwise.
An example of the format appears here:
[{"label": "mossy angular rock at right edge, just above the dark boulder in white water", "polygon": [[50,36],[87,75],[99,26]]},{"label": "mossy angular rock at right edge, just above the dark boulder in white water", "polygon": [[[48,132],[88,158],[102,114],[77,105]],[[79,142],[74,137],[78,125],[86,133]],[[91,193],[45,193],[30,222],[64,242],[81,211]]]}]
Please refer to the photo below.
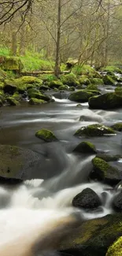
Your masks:
[{"label": "mossy angular rock at right edge, just above the dark boulder in white water", "polygon": [[121,179],[122,175],[115,167],[109,165],[108,162],[104,161],[102,158],[94,158],[92,160],[94,167],[95,177],[98,180],[102,180],[107,184],[117,184]]}]

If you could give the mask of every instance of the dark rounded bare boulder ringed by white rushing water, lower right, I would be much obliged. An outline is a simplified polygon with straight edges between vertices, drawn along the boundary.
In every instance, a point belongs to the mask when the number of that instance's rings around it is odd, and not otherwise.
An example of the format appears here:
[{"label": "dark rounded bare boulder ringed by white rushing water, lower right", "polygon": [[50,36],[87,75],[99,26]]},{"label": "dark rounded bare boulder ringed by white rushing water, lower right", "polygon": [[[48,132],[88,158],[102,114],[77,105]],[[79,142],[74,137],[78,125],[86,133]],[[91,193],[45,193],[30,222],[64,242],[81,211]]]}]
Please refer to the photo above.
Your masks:
[{"label": "dark rounded bare boulder ringed by white rushing water, lower right", "polygon": [[86,210],[96,209],[101,206],[101,200],[91,188],[87,187],[73,198],[72,205]]}]

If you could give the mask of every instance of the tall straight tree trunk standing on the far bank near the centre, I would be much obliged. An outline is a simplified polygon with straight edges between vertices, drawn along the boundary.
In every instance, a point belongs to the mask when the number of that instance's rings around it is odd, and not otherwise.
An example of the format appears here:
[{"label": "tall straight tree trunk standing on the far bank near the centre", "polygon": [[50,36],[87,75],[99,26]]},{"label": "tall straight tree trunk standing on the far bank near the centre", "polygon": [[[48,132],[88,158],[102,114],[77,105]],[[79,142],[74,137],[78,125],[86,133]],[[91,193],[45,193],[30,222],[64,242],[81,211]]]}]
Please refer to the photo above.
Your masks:
[{"label": "tall straight tree trunk standing on the far bank near the centre", "polygon": [[59,77],[60,69],[60,39],[61,39],[61,0],[58,0],[58,13],[57,13],[57,42],[56,42],[56,60],[54,74]]}]

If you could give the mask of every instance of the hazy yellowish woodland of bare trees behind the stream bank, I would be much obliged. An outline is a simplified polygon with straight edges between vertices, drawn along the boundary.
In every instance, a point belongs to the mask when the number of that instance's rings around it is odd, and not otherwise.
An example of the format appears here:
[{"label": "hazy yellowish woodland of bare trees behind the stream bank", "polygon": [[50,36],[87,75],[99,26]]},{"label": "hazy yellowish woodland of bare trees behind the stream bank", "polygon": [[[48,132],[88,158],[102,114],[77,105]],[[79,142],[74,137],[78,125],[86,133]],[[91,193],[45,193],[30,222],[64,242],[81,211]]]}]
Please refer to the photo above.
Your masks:
[{"label": "hazy yellowish woodland of bare trees behind the stream bank", "polygon": [[55,61],[68,58],[96,67],[121,61],[120,0],[0,1],[1,46],[14,56],[26,50]]}]

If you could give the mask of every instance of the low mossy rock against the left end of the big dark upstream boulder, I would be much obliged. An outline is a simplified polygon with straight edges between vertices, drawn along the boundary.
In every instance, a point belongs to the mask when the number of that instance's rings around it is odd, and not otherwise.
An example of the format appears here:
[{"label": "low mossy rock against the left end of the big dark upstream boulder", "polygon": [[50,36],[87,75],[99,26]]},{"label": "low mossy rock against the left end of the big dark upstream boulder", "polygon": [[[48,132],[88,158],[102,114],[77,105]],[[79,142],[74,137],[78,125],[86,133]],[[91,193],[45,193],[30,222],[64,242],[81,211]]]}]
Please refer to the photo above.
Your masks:
[{"label": "low mossy rock against the left end of the big dark upstream boulder", "polygon": [[91,92],[87,90],[79,90],[69,95],[68,99],[73,102],[88,102],[88,99],[94,95],[96,95],[95,92]]}]

